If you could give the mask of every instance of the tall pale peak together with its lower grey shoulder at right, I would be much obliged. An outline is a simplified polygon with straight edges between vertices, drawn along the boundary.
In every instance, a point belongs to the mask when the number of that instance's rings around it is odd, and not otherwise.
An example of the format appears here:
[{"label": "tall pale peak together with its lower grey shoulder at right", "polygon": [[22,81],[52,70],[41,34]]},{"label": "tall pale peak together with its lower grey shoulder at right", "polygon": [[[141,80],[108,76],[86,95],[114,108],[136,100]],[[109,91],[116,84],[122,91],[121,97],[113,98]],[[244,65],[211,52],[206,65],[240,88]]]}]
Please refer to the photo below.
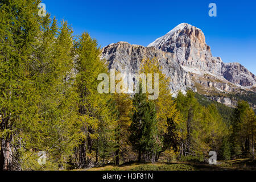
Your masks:
[{"label": "tall pale peak together with its lower grey shoulder at right", "polygon": [[213,57],[210,47],[205,43],[203,31],[187,23],[181,23],[161,38],[148,45],[162,51],[175,53],[177,61],[189,68],[199,68],[241,86],[253,86],[256,78],[239,63],[222,62]]}]

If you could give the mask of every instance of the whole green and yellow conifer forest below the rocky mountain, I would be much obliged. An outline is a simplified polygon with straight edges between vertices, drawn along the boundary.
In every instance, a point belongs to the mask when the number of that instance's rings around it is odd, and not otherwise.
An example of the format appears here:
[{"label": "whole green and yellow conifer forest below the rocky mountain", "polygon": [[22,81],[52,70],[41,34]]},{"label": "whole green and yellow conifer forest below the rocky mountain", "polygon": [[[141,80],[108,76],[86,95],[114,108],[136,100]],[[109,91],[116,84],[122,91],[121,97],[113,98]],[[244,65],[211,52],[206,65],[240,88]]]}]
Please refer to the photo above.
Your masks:
[{"label": "whole green and yellow conifer forest below the rocky mountain", "polygon": [[98,93],[98,75],[110,73],[97,40],[38,16],[39,3],[0,1],[1,170],[209,165],[210,151],[217,162],[246,159],[255,169],[256,117],[245,99],[231,108],[189,89],[172,97],[154,59],[140,72],[159,74],[158,99]]}]

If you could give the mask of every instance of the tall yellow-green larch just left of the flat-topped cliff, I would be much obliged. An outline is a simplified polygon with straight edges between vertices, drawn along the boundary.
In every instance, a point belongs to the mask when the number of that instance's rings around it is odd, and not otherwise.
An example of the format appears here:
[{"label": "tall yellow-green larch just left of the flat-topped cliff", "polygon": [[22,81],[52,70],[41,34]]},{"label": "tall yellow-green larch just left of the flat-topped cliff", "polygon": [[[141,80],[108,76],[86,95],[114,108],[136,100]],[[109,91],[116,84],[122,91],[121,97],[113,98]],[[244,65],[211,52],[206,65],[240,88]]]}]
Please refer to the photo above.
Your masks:
[{"label": "tall yellow-green larch just left of the flat-topped cliff", "polygon": [[[81,143],[79,147],[79,167],[86,167],[92,162],[93,141],[98,137],[106,137],[106,140],[113,140],[115,119],[111,115],[108,101],[110,94],[100,94],[97,91],[100,81],[97,80],[101,73],[108,73],[108,68],[100,59],[101,49],[97,41],[90,38],[88,33],[83,33],[75,43],[76,52],[76,92],[79,94],[79,115],[81,121]],[[102,127],[107,133],[103,134]],[[99,131],[100,133],[98,133]],[[96,148],[97,152],[101,148]],[[102,148],[106,150],[106,148]],[[103,151],[102,151],[103,152]],[[102,153],[104,155],[104,152]],[[87,155],[87,156],[86,156]]]}]

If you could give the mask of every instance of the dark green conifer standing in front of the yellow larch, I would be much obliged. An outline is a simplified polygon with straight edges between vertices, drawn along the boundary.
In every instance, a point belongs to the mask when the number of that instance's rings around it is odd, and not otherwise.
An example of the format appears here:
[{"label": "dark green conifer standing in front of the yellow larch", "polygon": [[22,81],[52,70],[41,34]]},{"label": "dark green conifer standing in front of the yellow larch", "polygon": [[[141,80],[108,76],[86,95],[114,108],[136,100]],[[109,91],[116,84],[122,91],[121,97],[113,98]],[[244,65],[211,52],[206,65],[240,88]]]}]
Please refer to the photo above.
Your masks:
[{"label": "dark green conifer standing in front of the yellow larch", "polygon": [[[130,142],[138,151],[138,161],[142,155],[152,158],[159,151],[158,130],[156,129],[156,111],[154,102],[147,101],[146,94],[137,93],[133,98],[134,113],[130,126]],[[144,159],[146,160],[146,159]]]}]

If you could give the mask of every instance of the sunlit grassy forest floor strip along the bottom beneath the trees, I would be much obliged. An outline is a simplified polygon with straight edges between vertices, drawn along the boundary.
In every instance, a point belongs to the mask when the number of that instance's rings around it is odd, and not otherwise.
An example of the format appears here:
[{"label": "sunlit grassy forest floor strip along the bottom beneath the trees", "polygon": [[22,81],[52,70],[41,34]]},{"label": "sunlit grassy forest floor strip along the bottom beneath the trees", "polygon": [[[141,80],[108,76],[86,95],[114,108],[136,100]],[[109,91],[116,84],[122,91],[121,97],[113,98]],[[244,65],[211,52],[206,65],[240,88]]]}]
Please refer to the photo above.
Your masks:
[{"label": "sunlit grassy forest floor strip along the bottom beneath the trees", "polygon": [[218,161],[217,165],[200,162],[164,163],[127,163],[120,166],[105,165],[87,169],[89,171],[233,171],[256,170],[256,161],[251,159],[236,159]]}]

